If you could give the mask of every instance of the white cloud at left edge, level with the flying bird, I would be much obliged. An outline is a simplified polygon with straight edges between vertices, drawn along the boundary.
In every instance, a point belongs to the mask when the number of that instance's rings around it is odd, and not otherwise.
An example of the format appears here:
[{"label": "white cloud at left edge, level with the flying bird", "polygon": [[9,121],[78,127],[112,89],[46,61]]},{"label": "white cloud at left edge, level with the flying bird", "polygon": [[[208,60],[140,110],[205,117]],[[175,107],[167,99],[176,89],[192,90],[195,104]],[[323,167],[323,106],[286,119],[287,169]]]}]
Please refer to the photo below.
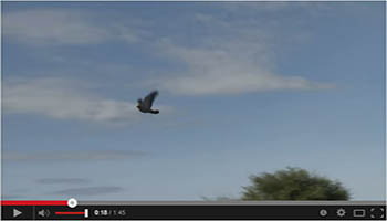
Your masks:
[{"label": "white cloud at left edge, level with the flying bird", "polygon": [[8,81],[3,83],[3,108],[95,123],[126,124],[139,117],[134,103],[93,96],[77,86],[76,82],[54,77]]}]

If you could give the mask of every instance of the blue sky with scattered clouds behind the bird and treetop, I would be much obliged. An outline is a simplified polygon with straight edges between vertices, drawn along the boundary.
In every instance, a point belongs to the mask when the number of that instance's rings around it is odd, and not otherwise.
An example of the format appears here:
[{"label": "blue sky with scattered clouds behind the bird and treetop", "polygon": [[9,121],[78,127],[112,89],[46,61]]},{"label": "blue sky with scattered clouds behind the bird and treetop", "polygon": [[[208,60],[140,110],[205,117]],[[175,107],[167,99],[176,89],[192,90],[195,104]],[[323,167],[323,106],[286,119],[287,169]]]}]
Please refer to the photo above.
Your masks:
[{"label": "blue sky with scattered clouds behind the bird and treetop", "polygon": [[286,167],[385,199],[384,2],[1,4],[3,199],[239,198]]}]

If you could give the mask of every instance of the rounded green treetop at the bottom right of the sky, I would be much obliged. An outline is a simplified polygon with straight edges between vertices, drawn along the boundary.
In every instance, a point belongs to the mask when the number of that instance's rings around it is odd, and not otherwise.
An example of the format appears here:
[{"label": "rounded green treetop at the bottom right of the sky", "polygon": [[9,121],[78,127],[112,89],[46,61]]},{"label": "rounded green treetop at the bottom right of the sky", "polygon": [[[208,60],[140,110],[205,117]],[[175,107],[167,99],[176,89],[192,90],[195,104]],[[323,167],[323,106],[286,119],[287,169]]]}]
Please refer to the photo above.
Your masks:
[{"label": "rounded green treetop at the bottom right of the sky", "polygon": [[274,173],[251,176],[242,200],[348,200],[349,191],[339,181],[312,175],[305,169],[286,168]]}]

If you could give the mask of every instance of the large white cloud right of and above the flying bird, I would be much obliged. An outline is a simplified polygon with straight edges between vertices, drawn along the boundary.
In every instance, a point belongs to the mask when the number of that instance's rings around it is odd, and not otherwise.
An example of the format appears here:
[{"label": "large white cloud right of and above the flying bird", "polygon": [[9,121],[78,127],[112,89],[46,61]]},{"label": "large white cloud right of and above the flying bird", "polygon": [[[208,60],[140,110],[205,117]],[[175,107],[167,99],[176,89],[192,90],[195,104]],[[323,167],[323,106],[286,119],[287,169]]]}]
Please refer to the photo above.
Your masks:
[{"label": "large white cloud right of and above the flying bird", "polygon": [[316,83],[297,75],[280,75],[265,55],[265,46],[249,41],[216,41],[201,48],[186,48],[163,42],[169,59],[186,64],[186,71],[153,81],[175,94],[240,94],[272,90],[318,90],[333,85]]}]

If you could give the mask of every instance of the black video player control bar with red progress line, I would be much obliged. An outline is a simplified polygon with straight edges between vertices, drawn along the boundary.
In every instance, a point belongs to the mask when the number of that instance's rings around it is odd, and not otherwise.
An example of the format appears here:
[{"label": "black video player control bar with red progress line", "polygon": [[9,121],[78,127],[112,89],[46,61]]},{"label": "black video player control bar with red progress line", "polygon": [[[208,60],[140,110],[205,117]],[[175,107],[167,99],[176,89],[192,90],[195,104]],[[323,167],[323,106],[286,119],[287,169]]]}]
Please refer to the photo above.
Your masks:
[{"label": "black video player control bar with red progress line", "polygon": [[[4,203],[6,202],[6,203]],[[2,220],[385,220],[385,204],[44,204],[2,202]],[[75,203],[75,207],[74,207]]]}]

